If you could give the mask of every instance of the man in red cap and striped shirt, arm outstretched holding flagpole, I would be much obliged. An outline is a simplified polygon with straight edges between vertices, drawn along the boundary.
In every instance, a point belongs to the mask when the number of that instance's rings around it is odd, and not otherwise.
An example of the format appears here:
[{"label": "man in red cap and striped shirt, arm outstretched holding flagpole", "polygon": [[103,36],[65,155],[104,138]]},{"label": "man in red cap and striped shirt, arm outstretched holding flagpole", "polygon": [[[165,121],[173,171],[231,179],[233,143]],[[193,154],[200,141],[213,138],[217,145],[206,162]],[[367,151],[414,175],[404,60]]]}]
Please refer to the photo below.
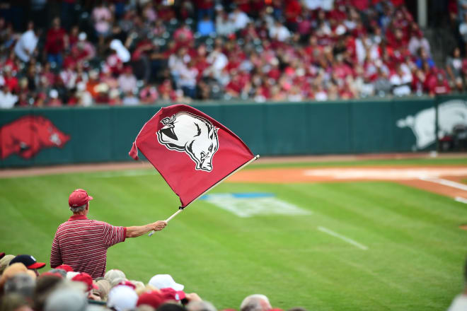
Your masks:
[{"label": "man in red cap and striped shirt, arm outstretched holding flagpole", "polygon": [[162,230],[167,225],[166,221],[156,221],[148,225],[115,227],[90,220],[86,216],[92,199],[83,189],[71,192],[68,204],[73,216],[57,228],[50,254],[52,268],[68,264],[74,271],[85,272],[93,278],[103,277],[109,247],[127,237],[139,237],[151,230]]}]

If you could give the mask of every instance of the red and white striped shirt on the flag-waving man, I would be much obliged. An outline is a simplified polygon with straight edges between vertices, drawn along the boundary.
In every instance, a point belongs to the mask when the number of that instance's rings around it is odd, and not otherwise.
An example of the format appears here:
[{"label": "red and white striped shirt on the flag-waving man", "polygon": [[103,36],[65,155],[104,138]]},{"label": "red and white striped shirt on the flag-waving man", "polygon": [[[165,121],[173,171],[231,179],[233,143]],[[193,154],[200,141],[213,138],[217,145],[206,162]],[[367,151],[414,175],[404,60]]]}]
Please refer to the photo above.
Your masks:
[{"label": "red and white striped shirt on the flag-waving man", "polygon": [[84,215],[74,215],[59,225],[52,242],[50,266],[68,264],[74,271],[86,272],[93,278],[104,276],[107,249],[125,241],[127,228]]}]

